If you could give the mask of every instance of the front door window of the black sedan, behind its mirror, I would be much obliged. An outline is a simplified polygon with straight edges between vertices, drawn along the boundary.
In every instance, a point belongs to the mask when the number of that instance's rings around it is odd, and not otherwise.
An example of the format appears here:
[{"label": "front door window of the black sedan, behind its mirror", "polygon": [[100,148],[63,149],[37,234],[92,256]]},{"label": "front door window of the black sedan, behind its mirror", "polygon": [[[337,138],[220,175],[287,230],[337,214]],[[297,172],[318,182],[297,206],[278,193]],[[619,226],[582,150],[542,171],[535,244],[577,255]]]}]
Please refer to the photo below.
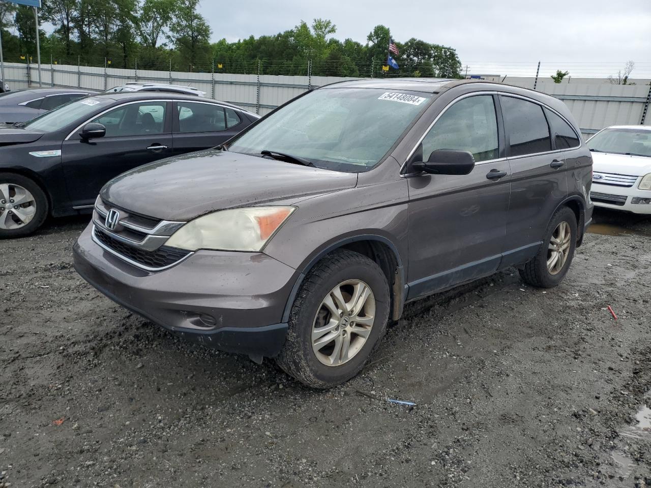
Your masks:
[{"label": "front door window of the black sedan, behind its mirror", "polygon": [[165,102],[143,102],[124,105],[91,122],[106,127],[105,137],[162,134],[165,128]]}]

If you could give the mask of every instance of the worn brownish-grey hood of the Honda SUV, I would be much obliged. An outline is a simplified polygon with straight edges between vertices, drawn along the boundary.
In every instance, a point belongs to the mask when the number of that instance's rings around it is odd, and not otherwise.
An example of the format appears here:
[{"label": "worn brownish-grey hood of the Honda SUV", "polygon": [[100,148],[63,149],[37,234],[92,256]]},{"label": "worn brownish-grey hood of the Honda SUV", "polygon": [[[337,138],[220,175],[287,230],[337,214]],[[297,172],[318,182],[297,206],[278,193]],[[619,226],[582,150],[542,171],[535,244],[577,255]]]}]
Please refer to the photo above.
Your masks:
[{"label": "worn brownish-grey hood of the Honda SUV", "polygon": [[189,221],[215,210],[329,193],[357,184],[357,174],[275,159],[208,150],[171,157],[128,171],[100,196],[124,210]]}]

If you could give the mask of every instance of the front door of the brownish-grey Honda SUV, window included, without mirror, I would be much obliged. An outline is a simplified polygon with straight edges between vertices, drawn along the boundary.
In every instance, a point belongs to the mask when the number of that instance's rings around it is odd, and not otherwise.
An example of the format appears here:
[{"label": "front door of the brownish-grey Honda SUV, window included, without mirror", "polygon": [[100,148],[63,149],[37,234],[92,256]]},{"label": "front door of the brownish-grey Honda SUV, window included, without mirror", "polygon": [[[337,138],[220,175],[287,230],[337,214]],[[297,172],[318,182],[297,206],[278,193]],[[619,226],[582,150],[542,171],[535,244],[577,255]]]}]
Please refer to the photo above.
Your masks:
[{"label": "front door of the brownish-grey Honda SUV, window included, without mirror", "polygon": [[454,102],[422,141],[428,159],[438,149],[469,151],[475,168],[464,176],[411,174],[408,299],[495,271],[501,260],[510,196],[510,169],[501,158],[492,95]]}]

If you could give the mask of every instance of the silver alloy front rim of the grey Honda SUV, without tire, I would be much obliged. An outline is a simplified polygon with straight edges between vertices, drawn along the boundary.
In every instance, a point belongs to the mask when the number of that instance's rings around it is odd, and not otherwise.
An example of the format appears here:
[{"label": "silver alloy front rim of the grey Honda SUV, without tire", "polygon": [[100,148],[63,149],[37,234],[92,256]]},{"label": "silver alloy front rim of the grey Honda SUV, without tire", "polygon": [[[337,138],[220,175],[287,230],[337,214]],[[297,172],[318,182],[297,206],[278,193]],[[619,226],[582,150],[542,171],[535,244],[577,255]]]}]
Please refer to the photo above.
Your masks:
[{"label": "silver alloy front rim of the grey Honda SUV, without tire", "polygon": [[346,280],[321,302],[312,325],[312,351],[322,364],[340,366],[364,346],[375,321],[375,297],[361,280]]}]

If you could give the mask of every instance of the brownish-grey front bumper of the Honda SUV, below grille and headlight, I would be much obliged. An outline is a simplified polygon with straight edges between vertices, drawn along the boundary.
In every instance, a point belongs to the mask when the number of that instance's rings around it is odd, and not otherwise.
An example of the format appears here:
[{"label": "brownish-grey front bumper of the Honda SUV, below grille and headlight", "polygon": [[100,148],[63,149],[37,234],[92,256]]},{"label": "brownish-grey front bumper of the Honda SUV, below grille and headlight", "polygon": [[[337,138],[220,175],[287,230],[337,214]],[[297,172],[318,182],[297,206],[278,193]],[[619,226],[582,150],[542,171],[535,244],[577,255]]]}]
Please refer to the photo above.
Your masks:
[{"label": "brownish-grey front bumper of the Honda SUV, below grille and headlight", "polygon": [[296,270],[266,254],[197,251],[164,271],[144,271],[104,251],[92,224],[74,245],[77,273],[107,297],[184,338],[223,351],[273,357]]}]

